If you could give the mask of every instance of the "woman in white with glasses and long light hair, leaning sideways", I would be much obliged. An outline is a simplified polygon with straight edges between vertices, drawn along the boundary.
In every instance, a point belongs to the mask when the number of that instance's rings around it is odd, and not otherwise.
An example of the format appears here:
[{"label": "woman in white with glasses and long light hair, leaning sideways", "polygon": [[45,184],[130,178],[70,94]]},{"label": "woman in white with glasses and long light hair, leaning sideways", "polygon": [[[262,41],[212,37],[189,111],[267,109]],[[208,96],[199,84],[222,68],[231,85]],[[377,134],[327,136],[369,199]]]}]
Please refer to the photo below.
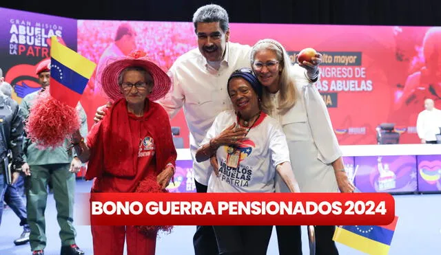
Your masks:
[{"label": "woman in white with glasses and long light hair, leaning sideways", "polygon": [[[263,110],[282,125],[301,192],[353,192],[325,102],[314,85],[320,62],[318,53],[311,63],[293,66],[284,47],[271,39],[258,41],[251,54],[252,68],[264,87]],[[278,176],[276,192],[289,192]],[[300,226],[276,230],[280,254],[302,254]],[[338,254],[334,230],[315,227],[317,255]]]}]

